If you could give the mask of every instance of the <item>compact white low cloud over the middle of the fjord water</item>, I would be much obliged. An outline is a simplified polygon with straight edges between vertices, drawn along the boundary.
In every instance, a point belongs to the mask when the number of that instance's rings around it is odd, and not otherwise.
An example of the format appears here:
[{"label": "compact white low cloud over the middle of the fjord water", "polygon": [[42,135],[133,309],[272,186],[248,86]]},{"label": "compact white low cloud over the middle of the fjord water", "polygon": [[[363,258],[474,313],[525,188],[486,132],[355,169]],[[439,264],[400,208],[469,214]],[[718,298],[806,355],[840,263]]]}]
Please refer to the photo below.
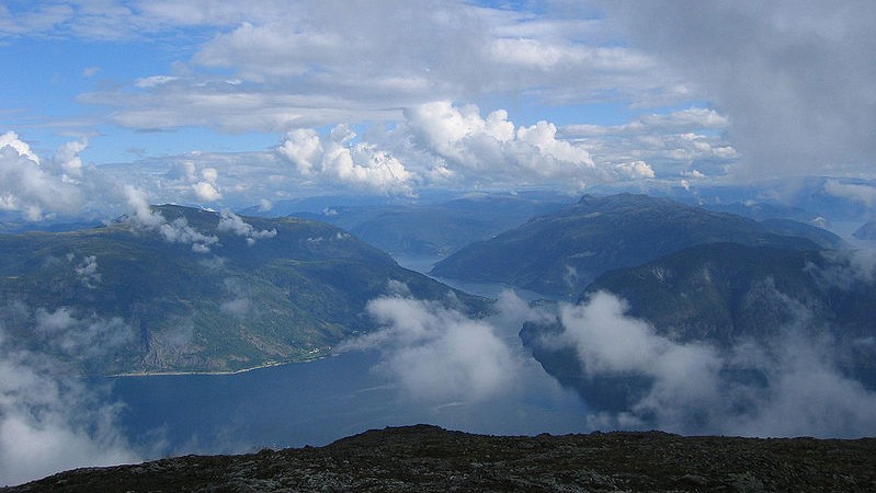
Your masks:
[{"label": "compact white low cloud over the middle of the fjord water", "polygon": [[426,402],[479,401],[514,389],[520,362],[489,323],[402,296],[374,299],[367,312],[380,329],[342,349],[378,349],[379,370],[407,395]]}]

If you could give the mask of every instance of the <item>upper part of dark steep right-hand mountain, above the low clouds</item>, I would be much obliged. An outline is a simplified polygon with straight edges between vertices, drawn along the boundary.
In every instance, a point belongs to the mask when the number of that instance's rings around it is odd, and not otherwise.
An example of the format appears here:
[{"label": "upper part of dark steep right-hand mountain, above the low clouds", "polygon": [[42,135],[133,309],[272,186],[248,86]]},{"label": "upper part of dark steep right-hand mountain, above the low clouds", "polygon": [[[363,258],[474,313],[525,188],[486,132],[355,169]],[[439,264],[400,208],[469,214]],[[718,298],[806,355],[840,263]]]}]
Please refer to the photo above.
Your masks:
[{"label": "upper part of dark steep right-hand mountain, above the low clouds", "polygon": [[[730,345],[793,323],[797,306],[835,329],[839,336],[874,332],[876,290],[861,278],[833,283],[846,268],[811,251],[696,245],[648,264],[600,276],[582,295],[607,290],[626,299],[630,314],[672,328],[679,341]],[[788,301],[796,301],[792,303]]]}]

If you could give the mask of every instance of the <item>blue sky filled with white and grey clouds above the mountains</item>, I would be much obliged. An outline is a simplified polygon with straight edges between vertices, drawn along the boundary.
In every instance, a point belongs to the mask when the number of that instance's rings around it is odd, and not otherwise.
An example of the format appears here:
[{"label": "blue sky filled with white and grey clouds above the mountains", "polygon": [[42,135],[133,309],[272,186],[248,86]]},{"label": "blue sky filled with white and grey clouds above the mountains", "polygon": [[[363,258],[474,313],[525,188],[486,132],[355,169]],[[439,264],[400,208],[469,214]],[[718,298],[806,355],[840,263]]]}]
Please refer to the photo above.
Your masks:
[{"label": "blue sky filled with white and grey clouds above the mountains", "polygon": [[[4,1],[0,209],[871,179],[869,1]],[[873,191],[867,191],[871,193]]]}]

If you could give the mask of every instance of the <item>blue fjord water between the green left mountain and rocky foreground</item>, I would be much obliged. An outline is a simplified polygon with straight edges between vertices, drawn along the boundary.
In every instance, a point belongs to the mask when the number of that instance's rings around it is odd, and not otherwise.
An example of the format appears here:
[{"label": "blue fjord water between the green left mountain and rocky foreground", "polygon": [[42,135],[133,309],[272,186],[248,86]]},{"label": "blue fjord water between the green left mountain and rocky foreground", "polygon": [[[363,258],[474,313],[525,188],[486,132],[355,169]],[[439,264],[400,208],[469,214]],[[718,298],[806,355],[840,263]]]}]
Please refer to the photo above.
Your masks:
[{"label": "blue fjord water between the green left mountain and rocky foreground", "polygon": [[[399,259],[421,272],[435,261]],[[480,287],[485,296],[501,290]],[[578,394],[559,387],[526,354],[519,326],[501,330],[498,335],[524,363],[513,391],[485,399],[409,395],[380,371],[377,351],[234,375],[114,377],[111,399],[124,404],[121,426],[133,445],[168,455],[318,446],[371,428],[417,423],[503,435],[587,431],[587,408]]]}]

